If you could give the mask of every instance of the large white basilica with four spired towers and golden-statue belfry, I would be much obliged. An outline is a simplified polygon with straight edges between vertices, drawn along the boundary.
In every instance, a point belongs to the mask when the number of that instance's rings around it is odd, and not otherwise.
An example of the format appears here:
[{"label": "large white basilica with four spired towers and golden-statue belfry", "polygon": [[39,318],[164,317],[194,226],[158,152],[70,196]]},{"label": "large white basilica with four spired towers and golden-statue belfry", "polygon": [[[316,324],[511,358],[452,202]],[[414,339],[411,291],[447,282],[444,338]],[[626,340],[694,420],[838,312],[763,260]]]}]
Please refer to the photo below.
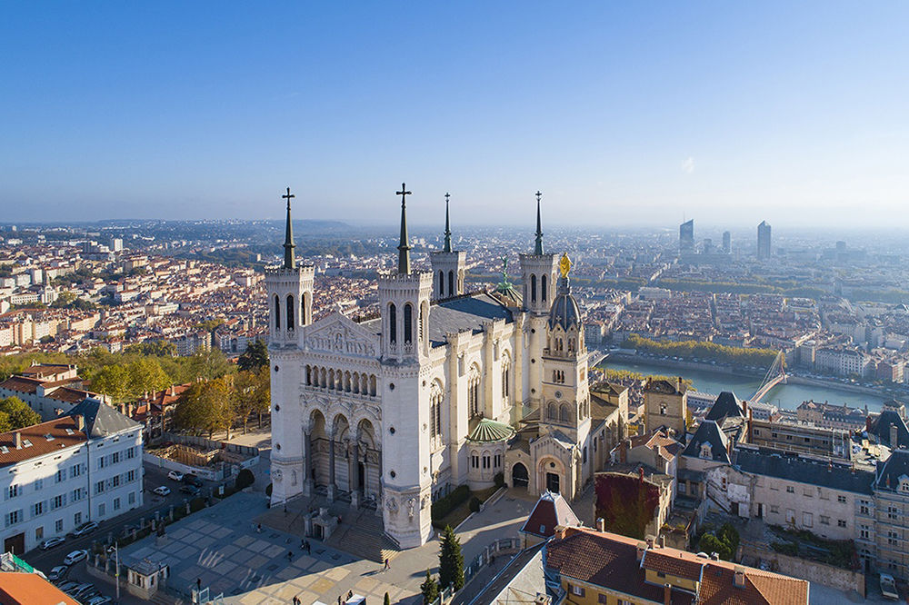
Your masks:
[{"label": "large white basilica with four spired towers and golden-statue belfry", "polygon": [[522,287],[464,290],[466,254],[445,244],[411,266],[406,195],[396,270],[377,275],[380,313],[313,321],[315,269],[297,263],[287,200],[284,263],[270,307],[273,503],[349,501],[381,516],[398,547],[428,541],[432,502],[498,481],[580,494],[624,439],[627,409],[588,386],[571,261],[545,253],[536,199]]}]

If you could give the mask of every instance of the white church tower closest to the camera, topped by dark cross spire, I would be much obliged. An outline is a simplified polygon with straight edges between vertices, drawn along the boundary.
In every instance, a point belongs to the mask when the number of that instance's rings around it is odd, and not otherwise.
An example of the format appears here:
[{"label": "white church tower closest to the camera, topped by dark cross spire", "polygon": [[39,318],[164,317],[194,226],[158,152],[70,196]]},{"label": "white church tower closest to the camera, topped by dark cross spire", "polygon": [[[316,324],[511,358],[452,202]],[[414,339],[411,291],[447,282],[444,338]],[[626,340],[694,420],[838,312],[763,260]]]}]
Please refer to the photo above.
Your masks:
[{"label": "white church tower closest to the camera, topped by dark cross spire", "polygon": [[383,520],[402,548],[432,534],[429,472],[429,301],[433,273],[414,272],[407,235],[407,191],[401,184],[401,239],[397,270],[380,273],[382,313]]}]

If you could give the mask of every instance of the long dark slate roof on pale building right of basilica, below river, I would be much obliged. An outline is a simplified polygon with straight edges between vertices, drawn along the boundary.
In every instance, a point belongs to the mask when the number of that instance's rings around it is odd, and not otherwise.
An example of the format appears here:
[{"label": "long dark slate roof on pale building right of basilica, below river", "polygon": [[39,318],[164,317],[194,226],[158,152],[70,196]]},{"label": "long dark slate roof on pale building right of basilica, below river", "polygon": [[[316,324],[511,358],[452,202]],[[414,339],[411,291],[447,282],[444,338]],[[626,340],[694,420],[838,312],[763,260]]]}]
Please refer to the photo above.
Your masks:
[{"label": "long dark slate roof on pale building right of basilica, below river", "polygon": [[733,464],[741,471],[819,485],[831,490],[872,493],[874,472],[853,469],[842,462],[800,456],[794,452],[739,446],[733,452]]}]

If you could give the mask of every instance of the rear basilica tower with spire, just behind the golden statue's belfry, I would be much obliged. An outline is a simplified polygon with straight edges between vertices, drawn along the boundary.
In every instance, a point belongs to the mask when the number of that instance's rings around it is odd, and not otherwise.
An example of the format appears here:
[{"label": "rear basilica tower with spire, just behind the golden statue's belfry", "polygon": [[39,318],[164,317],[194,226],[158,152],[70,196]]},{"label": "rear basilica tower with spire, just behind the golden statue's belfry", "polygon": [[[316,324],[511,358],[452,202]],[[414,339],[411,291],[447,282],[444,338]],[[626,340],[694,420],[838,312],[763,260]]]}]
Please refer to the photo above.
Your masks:
[{"label": "rear basilica tower with spire, just behind the golden statue's belfry", "polygon": [[543,251],[543,223],[540,219],[540,199],[536,192],[536,243],[534,253],[521,254],[521,273],[524,281],[524,339],[527,342],[530,363],[524,372],[526,403],[535,409],[541,400],[540,383],[543,382],[541,355],[545,344],[546,315],[555,294],[555,256]]}]

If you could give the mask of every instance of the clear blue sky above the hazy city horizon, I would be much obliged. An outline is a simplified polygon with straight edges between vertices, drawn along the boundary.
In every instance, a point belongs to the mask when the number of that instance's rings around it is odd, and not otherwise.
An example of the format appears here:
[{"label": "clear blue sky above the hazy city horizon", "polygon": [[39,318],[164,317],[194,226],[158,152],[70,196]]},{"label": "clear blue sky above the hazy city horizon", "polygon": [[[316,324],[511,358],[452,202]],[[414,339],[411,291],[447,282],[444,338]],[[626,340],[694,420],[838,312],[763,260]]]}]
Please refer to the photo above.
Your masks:
[{"label": "clear blue sky above the hazy city horizon", "polygon": [[0,221],[909,226],[909,4],[566,6],[3,0]]}]

